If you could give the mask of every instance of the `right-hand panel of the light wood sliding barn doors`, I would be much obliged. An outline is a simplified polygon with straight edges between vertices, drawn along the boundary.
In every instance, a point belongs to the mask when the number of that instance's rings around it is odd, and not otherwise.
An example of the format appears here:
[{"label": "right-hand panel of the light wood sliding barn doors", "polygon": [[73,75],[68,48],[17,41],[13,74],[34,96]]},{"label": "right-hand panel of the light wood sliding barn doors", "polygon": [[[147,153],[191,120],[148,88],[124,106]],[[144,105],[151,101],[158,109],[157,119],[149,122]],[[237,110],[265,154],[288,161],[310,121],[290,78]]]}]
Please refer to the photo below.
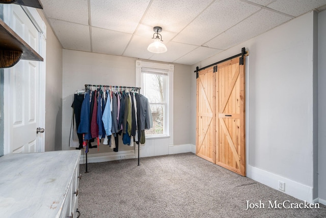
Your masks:
[{"label": "right-hand panel of the light wood sliding barn doors", "polygon": [[239,58],[218,65],[215,89],[216,164],[245,176],[244,65]]}]

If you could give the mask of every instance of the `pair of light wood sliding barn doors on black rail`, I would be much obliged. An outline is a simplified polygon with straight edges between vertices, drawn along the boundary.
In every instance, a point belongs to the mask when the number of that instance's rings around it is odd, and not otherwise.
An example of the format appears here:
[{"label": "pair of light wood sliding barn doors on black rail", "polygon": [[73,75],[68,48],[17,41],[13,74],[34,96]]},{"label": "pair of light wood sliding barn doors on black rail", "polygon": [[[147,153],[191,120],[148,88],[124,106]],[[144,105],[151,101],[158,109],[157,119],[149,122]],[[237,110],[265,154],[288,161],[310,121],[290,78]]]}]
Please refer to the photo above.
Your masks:
[{"label": "pair of light wood sliding barn doors on black rail", "polygon": [[246,176],[244,60],[198,72],[196,154]]}]

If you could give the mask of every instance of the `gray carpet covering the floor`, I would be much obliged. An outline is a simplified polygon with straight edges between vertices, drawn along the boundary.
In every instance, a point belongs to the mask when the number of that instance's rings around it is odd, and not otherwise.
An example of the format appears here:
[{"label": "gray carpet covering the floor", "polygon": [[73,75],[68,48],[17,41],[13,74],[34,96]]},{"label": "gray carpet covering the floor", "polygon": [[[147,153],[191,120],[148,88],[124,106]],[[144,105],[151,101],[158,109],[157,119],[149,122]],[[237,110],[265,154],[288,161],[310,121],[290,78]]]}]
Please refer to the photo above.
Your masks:
[{"label": "gray carpet covering the floor", "polygon": [[[326,217],[320,209],[268,208],[303,203],[193,153],[80,165],[80,217]],[[265,208],[248,209],[247,201]],[[286,202],[285,206],[289,204]],[[302,205],[303,206],[303,205]]]}]

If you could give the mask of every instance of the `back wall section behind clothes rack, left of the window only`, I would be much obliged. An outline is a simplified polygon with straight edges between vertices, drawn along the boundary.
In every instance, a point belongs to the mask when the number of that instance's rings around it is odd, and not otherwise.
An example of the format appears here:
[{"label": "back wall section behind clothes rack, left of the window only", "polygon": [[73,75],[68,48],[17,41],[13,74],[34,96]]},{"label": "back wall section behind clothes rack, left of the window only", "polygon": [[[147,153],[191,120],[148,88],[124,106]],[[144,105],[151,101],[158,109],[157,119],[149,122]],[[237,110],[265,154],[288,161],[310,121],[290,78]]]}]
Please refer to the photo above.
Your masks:
[{"label": "back wall section behind clothes rack, left of the window only", "polygon": [[[135,59],[63,49],[62,150],[69,149],[73,95],[85,84],[135,86]],[[120,142],[119,150],[133,150]],[[104,145],[99,150],[112,152]],[[97,149],[90,149],[92,153],[98,153]]]}]

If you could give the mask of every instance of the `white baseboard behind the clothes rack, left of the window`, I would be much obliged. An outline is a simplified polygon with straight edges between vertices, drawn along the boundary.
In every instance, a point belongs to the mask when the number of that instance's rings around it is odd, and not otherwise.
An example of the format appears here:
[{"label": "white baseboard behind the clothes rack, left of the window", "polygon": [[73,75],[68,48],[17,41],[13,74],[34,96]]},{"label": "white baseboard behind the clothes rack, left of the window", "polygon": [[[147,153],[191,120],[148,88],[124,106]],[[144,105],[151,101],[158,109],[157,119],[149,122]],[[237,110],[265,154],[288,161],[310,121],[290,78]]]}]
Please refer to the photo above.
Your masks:
[{"label": "white baseboard behind the clothes rack, left of the window", "polygon": [[[137,154],[137,156],[138,156],[138,154]],[[122,160],[122,159],[132,159],[132,158],[136,158],[136,154],[135,154],[134,150],[87,154],[87,162],[88,163],[106,162],[106,161],[112,161],[112,160]],[[84,164],[84,163],[86,163],[86,155],[82,154],[80,156],[79,164]]]}]

